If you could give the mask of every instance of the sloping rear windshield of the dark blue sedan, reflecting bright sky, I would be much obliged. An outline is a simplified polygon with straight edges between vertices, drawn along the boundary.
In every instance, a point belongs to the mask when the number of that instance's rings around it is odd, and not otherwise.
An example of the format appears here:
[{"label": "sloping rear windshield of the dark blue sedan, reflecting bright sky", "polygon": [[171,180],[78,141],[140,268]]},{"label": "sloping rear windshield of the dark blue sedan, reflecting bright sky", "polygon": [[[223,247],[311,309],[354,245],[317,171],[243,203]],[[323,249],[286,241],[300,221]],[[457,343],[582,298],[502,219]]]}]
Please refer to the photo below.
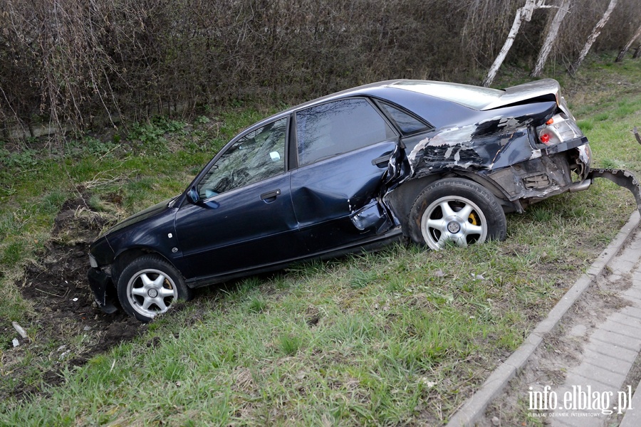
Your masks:
[{"label": "sloping rear windshield of the dark blue sedan, reflecting bright sky", "polygon": [[465,107],[481,110],[504,94],[503,90],[479,88],[479,86],[460,85],[459,83],[442,83],[427,80],[403,80],[392,85],[396,88],[431,95],[457,102]]}]

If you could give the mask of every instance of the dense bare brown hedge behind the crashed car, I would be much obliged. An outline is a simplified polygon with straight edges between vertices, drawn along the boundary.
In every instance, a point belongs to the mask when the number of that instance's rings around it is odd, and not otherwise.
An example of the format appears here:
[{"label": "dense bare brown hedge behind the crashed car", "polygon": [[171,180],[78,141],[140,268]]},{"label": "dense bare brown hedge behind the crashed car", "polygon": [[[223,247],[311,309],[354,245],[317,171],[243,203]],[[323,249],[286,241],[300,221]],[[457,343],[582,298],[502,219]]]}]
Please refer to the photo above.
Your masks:
[{"label": "dense bare brown hedge behind the crashed car", "polygon": [[[552,56],[571,63],[609,0],[570,1]],[[59,130],[191,114],[231,100],[298,100],[387,78],[479,83],[524,0],[5,0],[0,120]],[[641,20],[620,0],[593,51]],[[506,61],[533,64],[553,12]]]}]

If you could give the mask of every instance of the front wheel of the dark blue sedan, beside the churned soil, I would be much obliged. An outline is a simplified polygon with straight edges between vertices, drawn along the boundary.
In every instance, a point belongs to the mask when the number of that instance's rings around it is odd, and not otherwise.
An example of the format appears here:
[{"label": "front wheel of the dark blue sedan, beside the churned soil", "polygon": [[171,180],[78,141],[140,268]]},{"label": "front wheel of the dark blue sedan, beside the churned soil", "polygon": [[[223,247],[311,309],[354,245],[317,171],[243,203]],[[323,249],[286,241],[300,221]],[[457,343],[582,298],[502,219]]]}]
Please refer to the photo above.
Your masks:
[{"label": "front wheel of the dark blue sedan, beside the churned soil", "polygon": [[177,300],[190,300],[192,290],[176,268],[158,255],[144,255],[127,265],[118,278],[118,300],[128,315],[150,322]]}]

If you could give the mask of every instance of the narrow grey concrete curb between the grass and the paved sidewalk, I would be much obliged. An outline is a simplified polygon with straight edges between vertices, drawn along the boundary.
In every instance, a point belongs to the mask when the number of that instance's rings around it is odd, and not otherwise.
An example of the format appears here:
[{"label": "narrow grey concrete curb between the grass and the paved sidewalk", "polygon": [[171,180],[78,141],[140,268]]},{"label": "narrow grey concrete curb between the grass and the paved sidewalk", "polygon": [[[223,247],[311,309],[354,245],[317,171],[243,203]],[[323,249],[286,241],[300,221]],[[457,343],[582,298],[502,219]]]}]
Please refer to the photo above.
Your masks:
[{"label": "narrow grey concrete curb between the grass and the paved sidewalk", "polygon": [[583,295],[583,292],[588,289],[588,286],[590,286],[593,280],[603,272],[605,265],[610,263],[610,260],[614,258],[627,239],[630,238],[639,226],[640,220],[639,211],[635,211],[630,216],[630,220],[621,228],[615,239],[603,250],[588,271],[581,275],[572,288],[566,292],[566,295],[563,295],[563,298],[557,302],[548,314],[548,317],[537,325],[528,335],[525,342],[521,344],[521,347],[516,349],[516,352],[511,354],[505,362],[492,372],[481,386],[481,389],[476,391],[449,420],[447,427],[474,426],[474,423],[483,415],[490,402],[501,394],[501,391],[503,391],[508,381],[516,375],[516,372],[525,366],[528,359],[530,359],[541,342],[543,342],[546,334],[552,332],[574,302]]}]

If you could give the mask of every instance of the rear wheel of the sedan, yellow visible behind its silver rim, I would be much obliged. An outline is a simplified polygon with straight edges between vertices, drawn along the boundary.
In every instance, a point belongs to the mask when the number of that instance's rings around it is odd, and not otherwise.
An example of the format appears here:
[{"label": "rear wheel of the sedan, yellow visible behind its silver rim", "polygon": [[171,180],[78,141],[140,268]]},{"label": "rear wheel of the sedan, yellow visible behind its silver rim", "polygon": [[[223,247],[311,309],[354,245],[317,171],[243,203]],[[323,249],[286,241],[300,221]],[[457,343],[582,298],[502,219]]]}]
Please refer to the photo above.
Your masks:
[{"label": "rear wheel of the sedan, yellow visible behind its silver rim", "polygon": [[506,218],[499,201],[484,186],[446,178],[426,186],[408,218],[412,241],[439,250],[449,243],[468,246],[506,238]]}]

